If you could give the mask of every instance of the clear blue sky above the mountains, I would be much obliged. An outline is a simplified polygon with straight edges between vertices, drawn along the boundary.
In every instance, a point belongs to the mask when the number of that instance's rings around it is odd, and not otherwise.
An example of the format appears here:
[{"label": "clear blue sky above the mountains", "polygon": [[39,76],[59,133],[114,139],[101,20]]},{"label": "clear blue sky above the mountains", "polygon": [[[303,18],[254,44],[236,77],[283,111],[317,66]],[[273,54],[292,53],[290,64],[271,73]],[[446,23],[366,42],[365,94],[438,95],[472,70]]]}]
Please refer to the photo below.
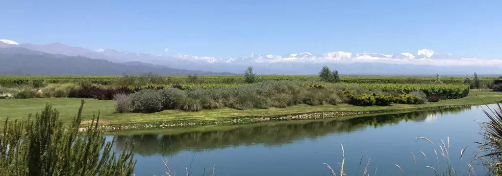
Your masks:
[{"label": "clear blue sky above the mountains", "polygon": [[430,48],[500,58],[500,0],[4,0],[0,38],[232,57]]}]

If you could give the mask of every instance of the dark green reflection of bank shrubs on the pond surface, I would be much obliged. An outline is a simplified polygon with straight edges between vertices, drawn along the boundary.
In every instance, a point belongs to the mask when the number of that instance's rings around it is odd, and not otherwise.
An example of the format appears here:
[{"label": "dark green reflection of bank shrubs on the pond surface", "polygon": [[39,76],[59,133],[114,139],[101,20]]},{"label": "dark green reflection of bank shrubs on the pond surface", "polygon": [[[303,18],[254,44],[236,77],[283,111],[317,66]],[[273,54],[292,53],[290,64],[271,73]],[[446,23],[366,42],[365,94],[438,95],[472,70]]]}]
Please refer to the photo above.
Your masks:
[{"label": "dark green reflection of bank shrubs on the pond surface", "polygon": [[134,142],[137,154],[171,155],[186,149],[216,149],[236,145],[280,145],[302,138],[317,138],[333,132],[350,132],[367,126],[397,124],[400,121],[424,121],[431,115],[458,113],[470,107],[373,115],[347,120],[318,120],[305,123],[238,127],[228,130],[194,131],[175,135],[143,134],[115,136],[117,149],[126,140]]}]

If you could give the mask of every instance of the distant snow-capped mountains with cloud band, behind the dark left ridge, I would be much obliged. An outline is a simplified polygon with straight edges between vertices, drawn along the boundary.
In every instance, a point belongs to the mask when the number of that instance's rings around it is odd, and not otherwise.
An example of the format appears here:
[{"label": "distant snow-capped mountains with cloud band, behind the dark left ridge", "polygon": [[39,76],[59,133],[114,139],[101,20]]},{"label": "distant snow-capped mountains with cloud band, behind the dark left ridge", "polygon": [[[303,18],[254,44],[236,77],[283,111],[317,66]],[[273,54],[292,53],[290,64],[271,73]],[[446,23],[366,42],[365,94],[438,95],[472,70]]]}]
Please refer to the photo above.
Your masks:
[{"label": "distant snow-capped mountains with cloud band, behind the dark left ridge", "polygon": [[[68,56],[85,56],[112,62],[143,62],[166,65],[173,68],[204,70],[215,72],[241,73],[247,66],[254,66],[263,74],[316,74],[323,65],[343,67],[351,74],[423,74],[431,70],[437,72],[470,73],[474,66],[493,67],[493,71],[502,70],[502,59],[482,59],[461,57],[449,53],[438,53],[432,49],[404,51],[387,54],[378,52],[334,51],[326,53],[297,52],[289,54],[251,53],[241,57],[222,58],[216,56],[198,56],[190,54],[156,55],[118,51],[115,49],[87,49],[69,46],[63,43],[19,44],[13,40],[0,40],[0,47],[24,47],[30,50]],[[463,67],[467,66],[467,67]],[[435,69],[432,69],[435,68]],[[469,71],[468,71],[469,70]],[[455,72],[456,71],[456,72]]]}]

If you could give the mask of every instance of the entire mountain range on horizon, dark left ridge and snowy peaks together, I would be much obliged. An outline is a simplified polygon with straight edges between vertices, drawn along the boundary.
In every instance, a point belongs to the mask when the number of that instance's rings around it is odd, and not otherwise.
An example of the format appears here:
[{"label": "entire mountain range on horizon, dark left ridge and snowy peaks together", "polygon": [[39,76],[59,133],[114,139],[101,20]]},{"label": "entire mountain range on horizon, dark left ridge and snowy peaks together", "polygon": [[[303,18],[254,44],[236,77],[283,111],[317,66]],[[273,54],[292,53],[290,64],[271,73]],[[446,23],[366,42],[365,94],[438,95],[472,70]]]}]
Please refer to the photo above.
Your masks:
[{"label": "entire mountain range on horizon, dark left ridge and snowy peaks together", "polygon": [[[76,62],[77,60],[99,61],[104,65],[75,65],[78,68],[53,70],[51,74],[120,74],[141,73],[145,71],[159,74],[232,74],[242,73],[245,67],[253,66],[260,74],[316,74],[323,65],[338,69],[342,74],[498,74],[502,71],[502,60],[480,59],[475,57],[441,54],[431,49],[415,52],[383,54],[373,52],[353,53],[346,51],[314,54],[311,52],[275,54],[250,54],[248,56],[220,58],[214,56],[195,56],[188,54],[156,55],[135,53],[115,49],[87,49],[69,46],[63,43],[31,44],[13,40],[0,40],[0,60],[33,61],[34,54],[40,59],[58,62]],[[37,51],[37,52],[34,52]],[[15,52],[13,54],[6,54]],[[26,57],[26,58],[25,58]],[[23,58],[23,59],[20,59]],[[56,59],[56,60],[55,60]],[[81,63],[80,63],[81,64]],[[97,63],[96,63],[97,64]],[[4,68],[2,74],[42,74],[22,67]],[[67,64],[70,66],[74,64]],[[12,65],[14,66],[14,65]],[[74,66],[74,67],[75,67]],[[93,69],[90,69],[93,68]],[[102,69],[102,70],[97,70]],[[8,71],[6,71],[8,70]],[[191,71],[199,70],[199,71]],[[6,73],[7,72],[7,73]],[[46,74],[46,73],[44,73]]]}]

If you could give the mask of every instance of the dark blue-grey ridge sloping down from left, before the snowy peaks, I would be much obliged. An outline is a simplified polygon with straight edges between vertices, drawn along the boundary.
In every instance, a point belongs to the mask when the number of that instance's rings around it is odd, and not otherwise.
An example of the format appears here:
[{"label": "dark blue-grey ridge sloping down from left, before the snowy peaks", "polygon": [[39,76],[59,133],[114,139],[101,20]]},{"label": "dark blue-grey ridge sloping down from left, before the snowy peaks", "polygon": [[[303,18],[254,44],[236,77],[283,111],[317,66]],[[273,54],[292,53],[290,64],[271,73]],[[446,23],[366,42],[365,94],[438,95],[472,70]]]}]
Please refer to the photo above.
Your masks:
[{"label": "dark blue-grey ridge sloping down from left, before the snowy peaks", "polygon": [[227,75],[153,65],[141,62],[114,63],[104,59],[68,56],[29,50],[24,47],[0,48],[0,74],[7,75],[119,75],[153,72],[164,75]]}]

